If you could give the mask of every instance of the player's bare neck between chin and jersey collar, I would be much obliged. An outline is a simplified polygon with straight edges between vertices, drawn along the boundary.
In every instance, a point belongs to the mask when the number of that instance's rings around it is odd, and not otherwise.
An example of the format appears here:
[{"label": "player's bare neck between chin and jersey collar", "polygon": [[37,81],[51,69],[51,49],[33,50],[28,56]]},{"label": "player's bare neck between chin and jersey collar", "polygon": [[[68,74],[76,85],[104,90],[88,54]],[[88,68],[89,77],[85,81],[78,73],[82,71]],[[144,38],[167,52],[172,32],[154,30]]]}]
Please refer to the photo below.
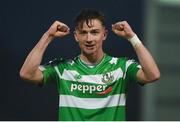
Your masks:
[{"label": "player's bare neck between chin and jersey collar", "polygon": [[104,52],[96,53],[96,54],[81,53],[80,58],[86,63],[97,64],[102,60],[103,56],[104,56]]}]

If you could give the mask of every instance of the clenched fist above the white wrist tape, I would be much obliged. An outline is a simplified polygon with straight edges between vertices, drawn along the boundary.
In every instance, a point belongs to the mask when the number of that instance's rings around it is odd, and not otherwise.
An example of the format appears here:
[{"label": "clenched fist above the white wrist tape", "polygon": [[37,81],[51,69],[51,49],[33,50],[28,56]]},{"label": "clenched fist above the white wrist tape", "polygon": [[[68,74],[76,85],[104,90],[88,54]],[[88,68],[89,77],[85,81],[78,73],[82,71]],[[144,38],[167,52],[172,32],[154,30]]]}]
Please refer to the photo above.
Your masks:
[{"label": "clenched fist above the white wrist tape", "polygon": [[121,21],[112,24],[112,31],[118,36],[123,37],[125,39],[130,39],[135,35],[130,25],[126,21]]}]

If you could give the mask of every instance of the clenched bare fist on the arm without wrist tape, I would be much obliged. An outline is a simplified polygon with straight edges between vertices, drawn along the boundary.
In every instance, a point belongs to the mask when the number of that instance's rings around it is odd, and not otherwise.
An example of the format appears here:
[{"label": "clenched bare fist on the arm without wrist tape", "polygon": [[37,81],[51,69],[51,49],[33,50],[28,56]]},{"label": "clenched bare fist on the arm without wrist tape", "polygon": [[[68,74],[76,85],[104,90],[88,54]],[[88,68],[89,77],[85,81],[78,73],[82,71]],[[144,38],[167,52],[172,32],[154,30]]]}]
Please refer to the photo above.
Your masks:
[{"label": "clenched bare fist on the arm without wrist tape", "polygon": [[55,21],[48,29],[47,33],[52,37],[63,37],[70,33],[70,29],[66,24]]}]

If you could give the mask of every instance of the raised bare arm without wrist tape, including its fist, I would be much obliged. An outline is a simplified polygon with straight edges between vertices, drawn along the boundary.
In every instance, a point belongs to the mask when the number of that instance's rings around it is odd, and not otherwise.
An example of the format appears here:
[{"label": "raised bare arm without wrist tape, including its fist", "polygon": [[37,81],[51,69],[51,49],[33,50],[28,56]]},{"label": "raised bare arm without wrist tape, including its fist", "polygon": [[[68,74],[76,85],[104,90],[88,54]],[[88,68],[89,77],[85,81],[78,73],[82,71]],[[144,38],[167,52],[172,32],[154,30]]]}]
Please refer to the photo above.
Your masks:
[{"label": "raised bare arm without wrist tape, including its fist", "polygon": [[69,34],[69,30],[69,27],[64,23],[55,21],[28,54],[20,70],[20,77],[36,84],[41,83],[43,80],[43,74],[39,69],[39,65],[41,64],[47,46],[55,37],[63,37]]}]

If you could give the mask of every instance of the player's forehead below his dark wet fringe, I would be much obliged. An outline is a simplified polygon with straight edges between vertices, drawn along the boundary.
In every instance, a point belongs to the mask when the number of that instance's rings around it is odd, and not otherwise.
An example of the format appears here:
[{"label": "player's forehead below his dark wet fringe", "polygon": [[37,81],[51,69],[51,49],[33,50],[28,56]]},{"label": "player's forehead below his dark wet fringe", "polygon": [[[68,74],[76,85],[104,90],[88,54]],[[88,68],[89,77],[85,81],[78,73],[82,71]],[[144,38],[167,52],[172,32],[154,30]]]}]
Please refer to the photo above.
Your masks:
[{"label": "player's forehead below his dark wet fringe", "polygon": [[82,27],[79,27],[78,30],[89,30],[89,29],[102,29],[104,26],[101,21],[98,19],[92,19],[88,22],[84,21]]}]

